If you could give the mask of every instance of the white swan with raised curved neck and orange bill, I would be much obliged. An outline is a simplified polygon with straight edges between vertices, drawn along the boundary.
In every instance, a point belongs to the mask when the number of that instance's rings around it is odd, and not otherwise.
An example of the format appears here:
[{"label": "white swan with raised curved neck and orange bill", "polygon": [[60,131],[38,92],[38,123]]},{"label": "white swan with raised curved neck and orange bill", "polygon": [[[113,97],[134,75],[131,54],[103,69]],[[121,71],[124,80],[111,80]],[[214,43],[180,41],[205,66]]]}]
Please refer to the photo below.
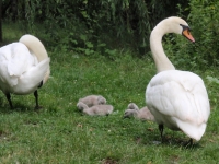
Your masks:
[{"label": "white swan with raised curved neck and orange bill", "polygon": [[195,73],[175,70],[162,48],[162,36],[176,33],[195,42],[188,24],[180,17],[161,21],[151,32],[150,48],[155,62],[155,74],[146,90],[146,103],[159,125],[161,139],[163,126],[182,130],[193,143],[205,133],[210,115],[208,94],[203,80]]}]

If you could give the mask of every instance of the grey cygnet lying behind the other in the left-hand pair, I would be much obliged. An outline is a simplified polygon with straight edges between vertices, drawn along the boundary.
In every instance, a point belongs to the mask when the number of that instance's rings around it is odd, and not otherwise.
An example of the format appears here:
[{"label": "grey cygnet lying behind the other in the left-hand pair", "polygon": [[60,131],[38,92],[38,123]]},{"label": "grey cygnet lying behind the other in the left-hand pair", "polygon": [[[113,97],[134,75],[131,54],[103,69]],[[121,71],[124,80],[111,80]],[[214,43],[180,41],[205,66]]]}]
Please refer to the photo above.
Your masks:
[{"label": "grey cygnet lying behind the other in the left-hand pair", "polygon": [[79,102],[82,102],[88,107],[106,104],[106,99],[102,95],[89,95],[80,98]]}]

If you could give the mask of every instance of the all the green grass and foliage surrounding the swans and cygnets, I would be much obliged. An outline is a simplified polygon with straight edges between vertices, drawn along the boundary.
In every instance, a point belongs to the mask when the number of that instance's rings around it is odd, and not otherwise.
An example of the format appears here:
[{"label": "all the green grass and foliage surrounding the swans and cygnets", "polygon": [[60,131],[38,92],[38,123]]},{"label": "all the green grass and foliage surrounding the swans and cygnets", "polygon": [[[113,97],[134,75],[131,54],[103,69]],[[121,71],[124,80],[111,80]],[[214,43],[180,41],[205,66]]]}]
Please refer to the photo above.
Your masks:
[{"label": "all the green grass and foliage surrounding the swans and cygnets", "polygon": [[[10,109],[0,94],[1,163],[160,164],[218,163],[218,21],[216,0],[0,0],[1,45],[26,33],[39,37],[51,58],[51,77],[34,96],[13,95]],[[168,10],[166,10],[168,9]],[[145,106],[145,90],[155,74],[150,31],[170,15],[185,19],[196,39],[166,35],[165,52],[177,69],[199,74],[211,115],[206,133],[192,148],[188,138],[158,126],[123,119],[130,102]],[[102,94],[114,106],[108,117],[78,112],[80,97]]]}]

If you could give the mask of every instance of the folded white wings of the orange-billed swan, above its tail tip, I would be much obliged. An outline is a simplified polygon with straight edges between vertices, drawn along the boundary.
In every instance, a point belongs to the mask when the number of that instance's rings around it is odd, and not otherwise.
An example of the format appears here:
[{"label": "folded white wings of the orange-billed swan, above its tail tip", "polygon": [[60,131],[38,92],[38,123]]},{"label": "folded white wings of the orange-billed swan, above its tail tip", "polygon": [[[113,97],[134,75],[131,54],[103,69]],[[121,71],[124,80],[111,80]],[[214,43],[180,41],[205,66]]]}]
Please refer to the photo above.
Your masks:
[{"label": "folded white wings of the orange-billed swan, above its tail tip", "polygon": [[146,101],[150,108],[162,115],[197,125],[207,122],[210,114],[203,80],[191,72],[164,71],[157,74],[147,87]]}]

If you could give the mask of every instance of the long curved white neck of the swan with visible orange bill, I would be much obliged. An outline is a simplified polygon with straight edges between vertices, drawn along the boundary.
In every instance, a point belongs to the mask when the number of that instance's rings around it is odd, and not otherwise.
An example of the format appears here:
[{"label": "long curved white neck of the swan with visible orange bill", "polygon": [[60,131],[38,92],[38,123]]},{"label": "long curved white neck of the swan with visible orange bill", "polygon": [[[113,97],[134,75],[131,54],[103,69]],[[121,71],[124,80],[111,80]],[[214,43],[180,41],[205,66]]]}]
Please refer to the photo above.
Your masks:
[{"label": "long curved white neck of the swan with visible orange bill", "polygon": [[166,23],[161,22],[153,28],[150,35],[150,48],[158,72],[175,70],[174,66],[164,54],[163,46],[161,44],[163,35],[170,33],[171,31],[169,27],[170,26]]}]

